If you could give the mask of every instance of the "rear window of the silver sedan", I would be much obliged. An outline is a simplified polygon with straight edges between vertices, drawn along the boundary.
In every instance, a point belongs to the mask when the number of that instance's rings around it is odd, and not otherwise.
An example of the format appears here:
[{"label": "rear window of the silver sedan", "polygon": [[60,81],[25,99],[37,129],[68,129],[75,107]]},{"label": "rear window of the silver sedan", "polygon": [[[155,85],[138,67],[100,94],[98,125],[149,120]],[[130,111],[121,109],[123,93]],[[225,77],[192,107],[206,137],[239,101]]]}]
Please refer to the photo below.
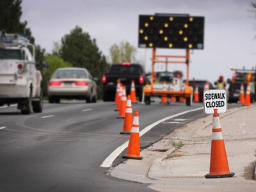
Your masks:
[{"label": "rear window of the silver sedan", "polygon": [[66,78],[87,78],[84,70],[70,69],[70,70],[57,70],[52,76],[55,79],[66,79]]}]

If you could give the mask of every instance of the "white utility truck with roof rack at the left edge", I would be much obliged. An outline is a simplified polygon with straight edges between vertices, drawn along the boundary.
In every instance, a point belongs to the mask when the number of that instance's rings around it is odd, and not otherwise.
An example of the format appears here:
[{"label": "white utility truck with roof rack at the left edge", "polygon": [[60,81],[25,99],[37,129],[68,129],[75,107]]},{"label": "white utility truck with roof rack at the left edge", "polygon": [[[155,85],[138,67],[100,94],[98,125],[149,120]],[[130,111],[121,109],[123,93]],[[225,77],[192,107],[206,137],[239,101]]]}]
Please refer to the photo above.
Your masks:
[{"label": "white utility truck with roof rack at the left edge", "polygon": [[35,46],[28,38],[0,31],[0,106],[18,104],[22,114],[42,112],[42,75],[37,67]]}]

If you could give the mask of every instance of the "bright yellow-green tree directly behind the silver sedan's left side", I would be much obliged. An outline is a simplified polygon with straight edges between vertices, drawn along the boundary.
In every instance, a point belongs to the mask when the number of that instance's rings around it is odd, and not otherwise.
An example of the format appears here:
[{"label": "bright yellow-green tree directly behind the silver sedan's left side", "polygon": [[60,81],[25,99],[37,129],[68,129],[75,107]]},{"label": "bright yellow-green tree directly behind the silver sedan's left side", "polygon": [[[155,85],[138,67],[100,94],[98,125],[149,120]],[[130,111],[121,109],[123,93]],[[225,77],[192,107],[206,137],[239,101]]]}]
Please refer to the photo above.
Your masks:
[{"label": "bright yellow-green tree directly behind the silver sedan's left side", "polygon": [[45,95],[47,95],[47,83],[51,79],[54,71],[57,68],[72,67],[72,65],[55,54],[47,54],[45,60],[48,63],[48,68],[42,72],[42,75],[44,79],[43,89]]}]

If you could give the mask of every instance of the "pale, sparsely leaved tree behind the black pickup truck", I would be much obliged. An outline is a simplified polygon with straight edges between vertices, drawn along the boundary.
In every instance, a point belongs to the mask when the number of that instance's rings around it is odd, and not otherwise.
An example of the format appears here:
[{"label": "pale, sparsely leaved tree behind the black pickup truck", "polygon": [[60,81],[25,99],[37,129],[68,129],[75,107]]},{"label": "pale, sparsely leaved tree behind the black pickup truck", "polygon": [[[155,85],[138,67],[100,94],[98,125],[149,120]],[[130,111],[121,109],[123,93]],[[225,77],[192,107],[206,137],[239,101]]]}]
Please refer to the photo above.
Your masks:
[{"label": "pale, sparsely leaved tree behind the black pickup truck", "polygon": [[129,44],[129,42],[120,42],[119,45],[113,44],[109,49],[109,54],[111,58],[111,63],[122,63],[122,62],[132,62],[137,63],[136,60],[136,47]]}]

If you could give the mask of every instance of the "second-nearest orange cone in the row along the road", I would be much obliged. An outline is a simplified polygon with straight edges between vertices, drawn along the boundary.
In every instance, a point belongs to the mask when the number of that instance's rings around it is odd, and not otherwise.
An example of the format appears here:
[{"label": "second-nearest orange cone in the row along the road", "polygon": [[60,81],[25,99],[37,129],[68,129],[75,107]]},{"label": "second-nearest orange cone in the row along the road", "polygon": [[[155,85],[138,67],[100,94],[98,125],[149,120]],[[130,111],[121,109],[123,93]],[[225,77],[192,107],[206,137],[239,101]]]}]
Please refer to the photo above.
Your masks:
[{"label": "second-nearest orange cone in the row along the road", "polygon": [[123,131],[120,134],[131,134],[132,130],[132,102],[131,96],[128,95],[125,109],[125,117],[124,117],[124,127]]}]

